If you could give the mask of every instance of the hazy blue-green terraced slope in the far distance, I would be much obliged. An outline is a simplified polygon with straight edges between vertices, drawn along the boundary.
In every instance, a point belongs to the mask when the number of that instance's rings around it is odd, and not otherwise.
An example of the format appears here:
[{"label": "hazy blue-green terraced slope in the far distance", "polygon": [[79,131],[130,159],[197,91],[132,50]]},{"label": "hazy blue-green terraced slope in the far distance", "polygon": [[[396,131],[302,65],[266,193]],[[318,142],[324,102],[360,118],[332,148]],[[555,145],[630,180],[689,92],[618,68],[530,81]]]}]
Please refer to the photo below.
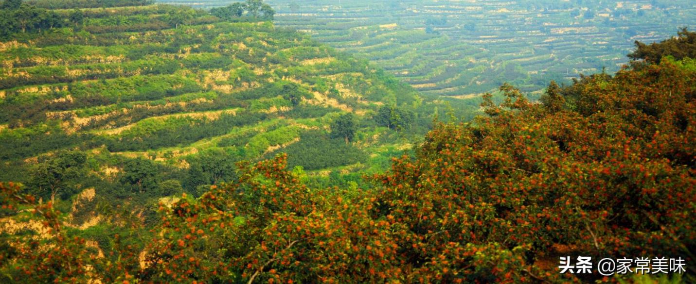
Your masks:
[{"label": "hazy blue-green terraced slope in the far distance", "polygon": [[[196,6],[230,1],[160,0]],[[349,51],[424,94],[473,97],[504,82],[615,72],[633,42],[695,26],[690,0],[269,1],[276,24]]]}]

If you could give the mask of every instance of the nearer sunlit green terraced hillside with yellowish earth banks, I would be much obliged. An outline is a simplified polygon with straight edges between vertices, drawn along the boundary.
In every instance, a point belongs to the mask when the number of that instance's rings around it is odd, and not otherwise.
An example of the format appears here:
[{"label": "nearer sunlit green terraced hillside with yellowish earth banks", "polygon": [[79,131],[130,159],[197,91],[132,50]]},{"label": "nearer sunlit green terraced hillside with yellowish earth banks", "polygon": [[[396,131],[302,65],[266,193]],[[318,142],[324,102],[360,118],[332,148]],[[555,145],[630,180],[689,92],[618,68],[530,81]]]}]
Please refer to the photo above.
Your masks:
[{"label": "nearer sunlit green terraced hillside with yellowish earth banks", "polygon": [[[409,85],[270,22],[166,5],[77,11],[84,21],[0,43],[2,181],[65,198],[102,181],[97,195],[195,194],[280,152],[310,178],[359,181],[432,119],[415,116],[432,103]],[[380,124],[381,108],[411,120]],[[54,179],[74,154],[87,178]]]}]

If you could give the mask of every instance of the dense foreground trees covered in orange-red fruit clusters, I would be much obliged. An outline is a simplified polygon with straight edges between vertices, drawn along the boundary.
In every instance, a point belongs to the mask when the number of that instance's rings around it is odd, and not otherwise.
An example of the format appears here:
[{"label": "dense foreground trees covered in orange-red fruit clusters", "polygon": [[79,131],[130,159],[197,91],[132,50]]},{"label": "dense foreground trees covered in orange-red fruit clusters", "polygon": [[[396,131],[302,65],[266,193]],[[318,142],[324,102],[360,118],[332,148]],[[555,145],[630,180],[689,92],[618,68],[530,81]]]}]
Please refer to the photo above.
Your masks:
[{"label": "dense foreground trees covered in orange-red fruit clusters", "polygon": [[[100,243],[103,255],[71,235],[53,202],[0,183],[3,222],[29,220],[19,227],[29,233],[0,235],[0,280],[592,283],[654,278],[559,274],[559,256],[693,262],[695,60],[665,57],[615,76],[551,83],[541,103],[512,85],[500,90],[501,103],[484,96],[487,116],[436,124],[416,156],[394,159],[369,189],[307,185],[301,167],[287,169],[286,154],[239,162],[229,174],[230,153],[206,151],[190,160],[189,174],[206,188],[200,197],[161,199],[149,234],[141,234],[138,213],[110,215],[104,224],[118,233],[104,233],[111,241]],[[298,129],[239,137],[253,144]],[[324,149],[312,145],[322,139],[352,147],[342,135],[332,140],[315,129],[287,150],[291,158],[302,150],[317,155]],[[82,162],[63,152],[36,167],[55,177]],[[124,183],[180,190],[176,181],[153,183],[159,171],[150,163],[130,160]],[[224,175],[235,181],[219,182]],[[694,281],[694,267],[686,268],[684,281]]]}]

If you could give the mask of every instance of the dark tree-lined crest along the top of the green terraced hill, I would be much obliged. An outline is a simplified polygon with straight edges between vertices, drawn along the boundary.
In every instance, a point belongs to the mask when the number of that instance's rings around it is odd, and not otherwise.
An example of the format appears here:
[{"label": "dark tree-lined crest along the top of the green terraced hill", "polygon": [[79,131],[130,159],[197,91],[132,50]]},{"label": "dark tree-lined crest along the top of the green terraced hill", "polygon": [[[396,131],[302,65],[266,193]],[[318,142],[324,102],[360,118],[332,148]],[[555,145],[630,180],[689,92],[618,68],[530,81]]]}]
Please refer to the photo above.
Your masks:
[{"label": "dark tree-lined crest along the top of the green terraced hill", "polygon": [[[125,22],[109,22],[113,19],[101,19],[102,12],[81,10],[80,8],[109,8],[126,6],[145,6],[152,0],[5,0],[0,1],[0,40],[11,37],[24,38],[29,33],[41,33],[53,28],[72,27],[90,33],[120,33],[135,31],[152,31],[165,28],[178,28],[181,24],[209,24],[217,18],[230,22],[239,20],[272,20],[275,11],[260,0],[238,2],[222,8],[214,8],[209,15],[214,17],[194,17],[196,14],[208,15],[202,10],[175,9],[163,6],[143,10],[145,14],[152,11],[168,10],[161,17],[129,17]],[[68,9],[57,10],[56,9]],[[113,12],[110,14],[113,15]]]}]

